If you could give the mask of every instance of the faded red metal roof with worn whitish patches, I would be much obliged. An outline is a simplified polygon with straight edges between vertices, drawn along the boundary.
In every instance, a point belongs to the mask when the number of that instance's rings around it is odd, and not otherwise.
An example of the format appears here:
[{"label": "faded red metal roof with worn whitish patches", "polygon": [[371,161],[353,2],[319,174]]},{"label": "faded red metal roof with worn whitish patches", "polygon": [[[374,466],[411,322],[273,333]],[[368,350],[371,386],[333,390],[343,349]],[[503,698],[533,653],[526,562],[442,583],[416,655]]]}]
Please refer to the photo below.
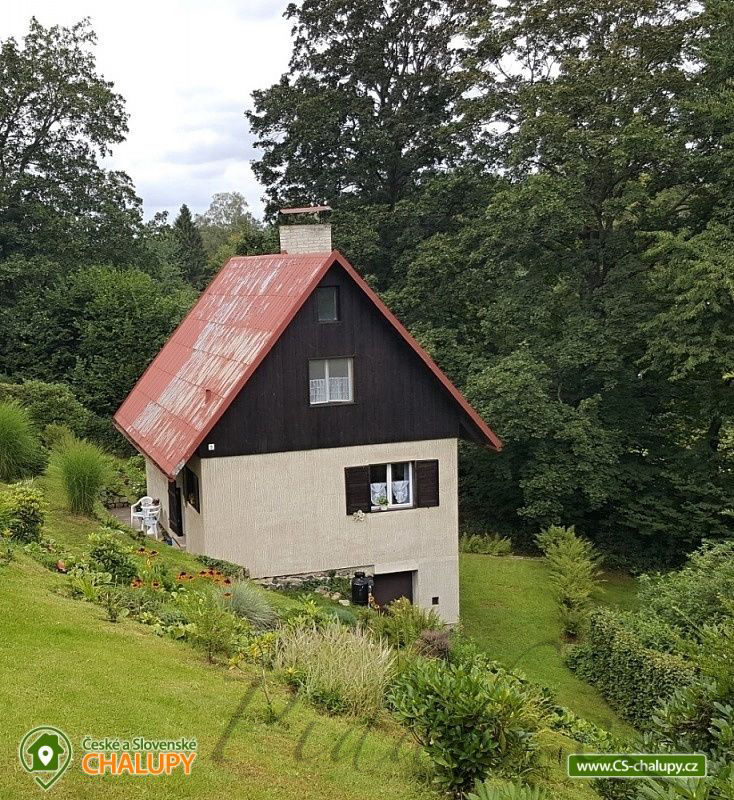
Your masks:
[{"label": "faded red metal roof with worn whitish patches", "polygon": [[500,450],[499,438],[336,250],[231,258],[135,384],[115,425],[174,478],[335,263],[448,389],[487,444]]}]

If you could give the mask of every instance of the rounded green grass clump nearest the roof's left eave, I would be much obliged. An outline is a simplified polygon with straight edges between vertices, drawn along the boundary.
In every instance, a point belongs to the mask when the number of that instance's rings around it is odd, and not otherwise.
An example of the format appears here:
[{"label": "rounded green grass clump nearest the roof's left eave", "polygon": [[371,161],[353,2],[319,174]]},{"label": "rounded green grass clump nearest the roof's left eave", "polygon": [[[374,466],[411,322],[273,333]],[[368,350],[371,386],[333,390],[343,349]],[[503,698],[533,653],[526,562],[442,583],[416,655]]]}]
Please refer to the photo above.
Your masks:
[{"label": "rounded green grass clump nearest the roof's left eave", "polygon": [[84,439],[66,437],[51,453],[49,473],[61,484],[74,514],[92,515],[108,469],[107,456]]}]

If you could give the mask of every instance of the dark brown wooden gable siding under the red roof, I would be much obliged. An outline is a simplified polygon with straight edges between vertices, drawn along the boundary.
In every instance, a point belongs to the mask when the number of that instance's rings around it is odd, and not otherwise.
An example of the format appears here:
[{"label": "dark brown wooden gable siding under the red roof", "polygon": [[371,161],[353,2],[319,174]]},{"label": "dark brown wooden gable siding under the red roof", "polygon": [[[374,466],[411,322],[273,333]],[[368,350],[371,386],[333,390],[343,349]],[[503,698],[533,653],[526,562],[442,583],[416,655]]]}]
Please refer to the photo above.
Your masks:
[{"label": "dark brown wooden gable siding under the red roof", "polygon": [[[339,286],[340,321],[317,322],[312,295],[206,437],[202,458],[465,435],[448,392],[341,267],[320,285]],[[309,405],[309,359],[338,356],[354,358],[354,402]]]}]

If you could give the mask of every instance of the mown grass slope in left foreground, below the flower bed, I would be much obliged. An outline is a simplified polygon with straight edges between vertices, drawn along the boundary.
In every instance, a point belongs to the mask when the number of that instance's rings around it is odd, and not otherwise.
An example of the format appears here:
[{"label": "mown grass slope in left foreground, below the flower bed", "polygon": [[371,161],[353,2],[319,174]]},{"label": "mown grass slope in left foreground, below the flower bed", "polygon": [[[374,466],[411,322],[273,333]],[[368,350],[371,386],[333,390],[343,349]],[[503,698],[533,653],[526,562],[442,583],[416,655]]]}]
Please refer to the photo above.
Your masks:
[{"label": "mown grass slope in left foreground, below the flower bed", "polygon": [[[191,777],[95,778],[76,763],[54,797],[362,798],[378,780],[390,797],[430,795],[415,786],[409,746],[389,759],[397,731],[369,733],[355,770],[359,730],[297,704],[265,725],[258,694],[237,722],[223,759],[213,753],[241,702],[248,678],[209,667],[188,645],[148,628],[103,619],[101,609],[54,593],[63,583],[22,558],[0,573],[0,798],[37,797],[21,771],[16,747],[31,727],[60,727],[78,746],[86,734],[175,738],[195,736],[199,756]],[[22,665],[22,669],[18,666]],[[253,676],[254,677],[254,673]],[[277,690],[276,707],[287,695]],[[298,742],[313,726],[299,757]],[[336,759],[332,751],[353,731]]]}]

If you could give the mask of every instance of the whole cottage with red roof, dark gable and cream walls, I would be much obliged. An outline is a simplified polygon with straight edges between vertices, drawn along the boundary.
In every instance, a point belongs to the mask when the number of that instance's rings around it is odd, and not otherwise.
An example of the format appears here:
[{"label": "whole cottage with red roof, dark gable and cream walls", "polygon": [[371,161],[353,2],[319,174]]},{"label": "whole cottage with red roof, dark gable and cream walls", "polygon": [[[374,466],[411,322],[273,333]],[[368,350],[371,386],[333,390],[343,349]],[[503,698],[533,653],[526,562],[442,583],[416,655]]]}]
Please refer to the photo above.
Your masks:
[{"label": "whole cottage with red roof, dark gable and cream walls", "polygon": [[115,415],[188,550],[255,578],[375,576],[458,620],[457,445],[497,436],[331,248],[281,212],[280,254],[231,258]]}]

